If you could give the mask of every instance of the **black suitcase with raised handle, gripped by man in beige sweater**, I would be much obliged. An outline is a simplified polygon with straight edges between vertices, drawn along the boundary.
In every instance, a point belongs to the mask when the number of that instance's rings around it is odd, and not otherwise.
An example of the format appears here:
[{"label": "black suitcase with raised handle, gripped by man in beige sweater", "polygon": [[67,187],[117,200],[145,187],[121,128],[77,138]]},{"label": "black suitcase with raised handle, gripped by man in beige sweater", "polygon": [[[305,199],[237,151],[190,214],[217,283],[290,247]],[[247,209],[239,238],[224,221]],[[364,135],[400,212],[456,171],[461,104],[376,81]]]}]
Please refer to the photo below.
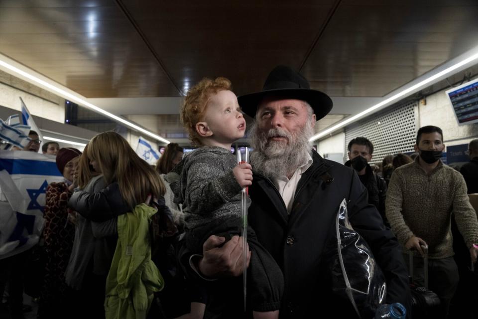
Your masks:
[{"label": "black suitcase with raised handle, gripped by man in beige sweater", "polygon": [[425,287],[413,282],[413,255],[409,253],[410,291],[412,294],[412,316],[419,319],[434,319],[441,316],[440,298],[428,289],[428,247],[421,246],[425,253],[423,257],[423,270]]}]

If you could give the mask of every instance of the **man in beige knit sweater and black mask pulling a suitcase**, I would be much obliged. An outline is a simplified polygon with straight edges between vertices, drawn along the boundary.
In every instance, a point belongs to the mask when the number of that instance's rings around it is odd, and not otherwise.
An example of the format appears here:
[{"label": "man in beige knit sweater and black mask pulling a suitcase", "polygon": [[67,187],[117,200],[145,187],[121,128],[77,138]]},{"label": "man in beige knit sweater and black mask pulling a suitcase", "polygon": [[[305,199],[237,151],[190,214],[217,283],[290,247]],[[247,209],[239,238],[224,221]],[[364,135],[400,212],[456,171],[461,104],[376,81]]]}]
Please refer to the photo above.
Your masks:
[{"label": "man in beige knit sweater and black mask pulling a suitcase", "polygon": [[[400,244],[414,250],[414,280],[423,285],[423,256],[428,246],[429,286],[441,299],[446,318],[458,285],[453,259],[452,215],[463,235],[473,262],[477,261],[478,222],[467,196],[463,176],[440,160],[445,145],[436,126],[418,130],[414,162],[397,168],[388,185],[386,216]],[[407,260],[407,259],[406,259]]]}]

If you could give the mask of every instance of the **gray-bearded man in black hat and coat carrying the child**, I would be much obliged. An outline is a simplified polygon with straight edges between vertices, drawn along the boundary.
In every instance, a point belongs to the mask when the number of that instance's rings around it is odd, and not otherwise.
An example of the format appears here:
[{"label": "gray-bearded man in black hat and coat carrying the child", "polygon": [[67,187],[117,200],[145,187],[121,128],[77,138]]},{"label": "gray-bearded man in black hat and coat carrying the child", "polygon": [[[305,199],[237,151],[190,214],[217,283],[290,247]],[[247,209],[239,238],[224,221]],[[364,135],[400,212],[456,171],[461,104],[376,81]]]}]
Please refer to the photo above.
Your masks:
[{"label": "gray-bearded man in black hat and coat carrying the child", "polygon": [[[239,105],[255,117],[249,132],[254,151],[248,222],[283,271],[280,318],[316,318],[324,309],[337,318],[357,317],[351,303],[333,294],[330,273],[325,271],[327,244],[344,198],[352,226],[367,241],[385,274],[386,303],[400,302],[408,308],[408,274],[395,236],[384,227],[376,208],[367,204],[367,191],[354,170],[324,160],[308,142],[315,122],[332,109],[331,99],[311,90],[298,72],[278,66],[263,90],[239,97]],[[223,237],[211,236],[203,256],[190,257],[182,251],[181,260],[189,259],[203,277],[239,276],[242,241],[233,237],[224,242]],[[211,304],[225,305],[228,299]],[[235,318],[232,313],[221,317],[213,312],[214,305],[207,308],[205,318]]]}]

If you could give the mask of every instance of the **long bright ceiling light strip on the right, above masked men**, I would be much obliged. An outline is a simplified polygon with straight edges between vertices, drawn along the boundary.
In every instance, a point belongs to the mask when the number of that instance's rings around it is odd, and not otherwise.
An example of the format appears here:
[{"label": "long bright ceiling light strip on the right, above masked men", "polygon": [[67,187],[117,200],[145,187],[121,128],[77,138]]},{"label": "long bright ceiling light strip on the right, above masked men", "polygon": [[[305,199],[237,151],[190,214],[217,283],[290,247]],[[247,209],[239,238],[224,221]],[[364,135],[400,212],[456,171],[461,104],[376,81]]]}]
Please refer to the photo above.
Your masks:
[{"label": "long bright ceiling light strip on the right, above masked men", "polygon": [[[472,51],[476,51],[477,49],[473,49]],[[467,54],[468,55],[468,54]],[[392,104],[393,102],[396,102],[398,101],[400,98],[403,98],[405,95],[407,94],[412,94],[414,91],[418,91],[420,89],[423,89],[426,85],[430,84],[430,82],[434,81],[434,80],[437,80],[438,78],[442,77],[442,76],[445,76],[445,75],[448,75],[450,74],[451,72],[455,71],[456,69],[460,68],[460,67],[463,67],[464,65],[468,64],[468,63],[472,63],[474,62],[475,60],[478,59],[478,53],[474,53],[473,55],[469,56],[468,58],[465,58],[463,60],[461,60],[460,62],[456,63],[456,64],[453,64],[452,66],[430,76],[430,77],[427,77],[426,79],[418,82],[417,84],[414,84],[412,85],[411,87],[407,88],[407,89],[404,89],[396,94],[393,94],[391,97],[383,100],[382,102],[378,103],[378,104],[375,104],[373,106],[371,106],[370,108],[360,112],[359,114],[356,114],[354,115],[353,117],[351,118],[348,118],[328,129],[325,129],[323,131],[320,131],[319,133],[317,133],[316,135],[314,135],[313,137],[311,137],[309,139],[309,142],[313,142],[317,139],[320,139],[334,131],[337,131],[338,129],[341,129],[343,127],[345,127],[347,124],[350,124],[356,120],[358,120],[359,118],[362,118],[364,115],[370,113],[370,112],[373,112],[375,111],[376,109],[380,108],[380,107],[383,107],[383,106],[386,106],[386,105],[390,105]]]}]

